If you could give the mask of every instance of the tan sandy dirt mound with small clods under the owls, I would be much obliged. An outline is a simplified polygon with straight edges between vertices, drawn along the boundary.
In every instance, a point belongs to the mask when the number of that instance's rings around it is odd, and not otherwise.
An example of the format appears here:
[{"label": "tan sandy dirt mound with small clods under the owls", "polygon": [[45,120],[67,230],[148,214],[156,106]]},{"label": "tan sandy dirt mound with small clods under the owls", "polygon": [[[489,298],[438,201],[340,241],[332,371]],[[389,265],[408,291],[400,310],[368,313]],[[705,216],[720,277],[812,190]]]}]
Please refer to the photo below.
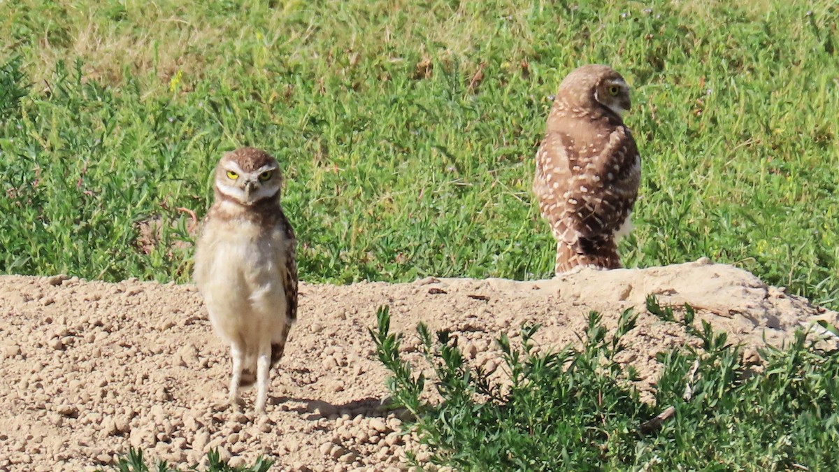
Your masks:
[{"label": "tan sandy dirt mound with small clods under the owls", "polygon": [[[644,270],[583,270],[550,281],[423,279],[408,284],[301,284],[300,320],[272,372],[268,413],[225,405],[229,356],[211,333],[191,285],[104,283],[62,275],[0,277],[0,470],[85,470],[112,464],[129,446],[170,463],[206,460],[218,448],[232,464],[259,454],[274,470],[404,469],[414,438],[387,401],[386,370],[367,328],[388,304],[392,330],[419,362],[414,326],[449,329],[472,362],[500,364],[493,340],[515,341],[522,323],[541,323],[543,349],[575,343],[590,310],[613,327],[637,307],[624,360],[659,375],[654,356],[695,344],[676,323],[647,313],[644,299],[690,303],[718,330],[747,344],[779,344],[816,318],[810,305],[727,265],[700,260]],[[503,375],[503,370],[496,370]]]}]

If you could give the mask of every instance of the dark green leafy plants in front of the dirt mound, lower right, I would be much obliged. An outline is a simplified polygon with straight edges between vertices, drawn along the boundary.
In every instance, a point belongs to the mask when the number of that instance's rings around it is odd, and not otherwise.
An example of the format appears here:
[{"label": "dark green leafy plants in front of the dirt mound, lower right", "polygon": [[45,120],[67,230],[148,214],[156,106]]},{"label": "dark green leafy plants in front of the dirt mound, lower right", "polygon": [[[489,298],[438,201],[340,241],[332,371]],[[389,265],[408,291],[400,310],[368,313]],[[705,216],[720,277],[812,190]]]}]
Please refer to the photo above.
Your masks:
[{"label": "dark green leafy plants in front of the dirt mound, lower right", "polygon": [[[654,301],[652,311],[673,320]],[[607,333],[592,312],[581,347],[534,354],[525,327],[520,346],[498,339],[511,380],[487,380],[464,362],[449,333],[417,329],[434,378],[415,375],[399,356],[402,334],[389,332],[387,307],[372,332],[378,356],[391,370],[394,406],[434,454],[456,470],[832,470],[839,454],[839,352],[825,351],[801,332],[788,349],[764,349],[762,370],[743,362],[737,346],[709,325],[689,332],[702,349],[676,349],[659,361],[664,373],[654,403],[639,400],[631,366],[618,364],[621,338],[634,326],[630,312]],[[432,380],[429,382],[428,380]],[[432,383],[442,397],[420,397]],[[690,396],[685,395],[690,386]],[[674,414],[650,420],[671,407]]]}]

